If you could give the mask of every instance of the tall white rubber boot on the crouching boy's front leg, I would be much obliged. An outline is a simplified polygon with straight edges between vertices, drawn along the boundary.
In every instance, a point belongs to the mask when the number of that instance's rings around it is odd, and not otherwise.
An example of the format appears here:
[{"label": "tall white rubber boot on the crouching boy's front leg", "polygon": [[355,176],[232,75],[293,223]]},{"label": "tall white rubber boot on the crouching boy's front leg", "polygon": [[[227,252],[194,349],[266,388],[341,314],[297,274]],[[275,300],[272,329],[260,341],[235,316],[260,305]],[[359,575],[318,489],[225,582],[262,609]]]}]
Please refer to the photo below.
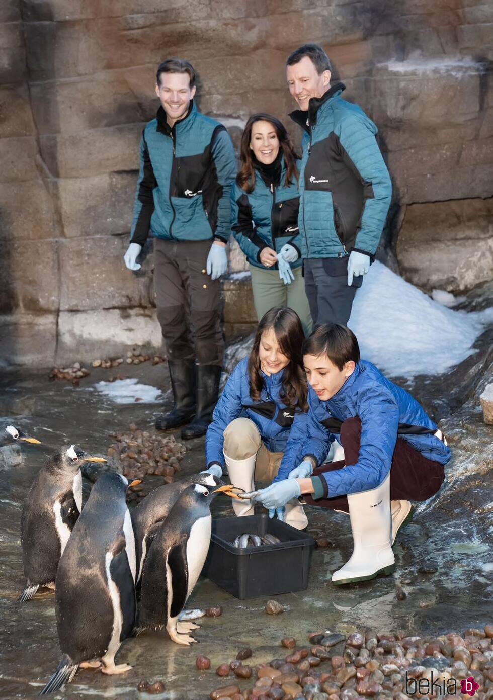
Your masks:
[{"label": "tall white rubber boot on the crouching boy's front leg", "polygon": [[348,493],[347,503],[354,549],[347,564],[333,573],[332,582],[341,585],[368,581],[380,573],[389,575],[395,568],[391,547],[390,474],[376,489]]}]

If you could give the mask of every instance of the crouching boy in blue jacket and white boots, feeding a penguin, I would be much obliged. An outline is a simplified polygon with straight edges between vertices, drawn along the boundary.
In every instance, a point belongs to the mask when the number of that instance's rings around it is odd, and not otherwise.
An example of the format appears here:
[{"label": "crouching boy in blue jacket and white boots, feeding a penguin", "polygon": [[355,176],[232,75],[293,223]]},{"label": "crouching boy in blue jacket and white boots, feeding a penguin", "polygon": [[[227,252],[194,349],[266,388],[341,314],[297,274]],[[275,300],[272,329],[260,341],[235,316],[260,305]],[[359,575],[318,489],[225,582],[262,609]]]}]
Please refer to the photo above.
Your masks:
[{"label": "crouching boy in blue jacket and white boots, feeding a penguin", "polygon": [[[391,545],[412,514],[409,500],[437,493],[450,447],[407,391],[360,359],[349,328],[321,325],[303,344],[303,363],[308,420],[298,429],[295,418],[286,445],[293,461],[283,462],[255,500],[282,511],[303,493],[310,505],[349,512],[354,551],[333,583],[387,575],[394,570]],[[334,433],[345,459],[324,464]]]}]

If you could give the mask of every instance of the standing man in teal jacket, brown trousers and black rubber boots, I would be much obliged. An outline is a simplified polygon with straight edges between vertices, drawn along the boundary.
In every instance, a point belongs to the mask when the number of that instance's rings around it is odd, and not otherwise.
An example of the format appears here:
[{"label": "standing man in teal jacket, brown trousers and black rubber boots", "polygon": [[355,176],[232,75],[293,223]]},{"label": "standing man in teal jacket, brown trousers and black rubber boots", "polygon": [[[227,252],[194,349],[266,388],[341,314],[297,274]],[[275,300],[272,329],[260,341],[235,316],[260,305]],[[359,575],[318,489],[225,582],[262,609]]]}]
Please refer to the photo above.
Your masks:
[{"label": "standing man in teal jacket, brown trousers and black rubber boots", "polygon": [[224,351],[219,277],[228,269],[235,153],[225,127],[197,110],[188,61],[162,62],[155,92],[161,106],[142,132],[124,260],[128,269],[139,269],[137,256],[151,231],[156,307],[174,397],[156,428],[189,423],[181,431],[187,439],[205,435],[218,398]]}]

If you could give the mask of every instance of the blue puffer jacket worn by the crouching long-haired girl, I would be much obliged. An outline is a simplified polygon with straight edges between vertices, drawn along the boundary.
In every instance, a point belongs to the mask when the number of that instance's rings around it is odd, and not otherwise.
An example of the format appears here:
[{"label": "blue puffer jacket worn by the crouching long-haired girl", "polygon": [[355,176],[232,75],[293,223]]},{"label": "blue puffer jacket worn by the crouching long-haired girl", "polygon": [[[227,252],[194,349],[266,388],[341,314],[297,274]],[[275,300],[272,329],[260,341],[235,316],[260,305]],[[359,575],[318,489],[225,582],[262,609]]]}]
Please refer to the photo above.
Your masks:
[{"label": "blue puffer jacket worn by the crouching long-haired girl", "polygon": [[[205,458],[208,468],[212,464],[224,466],[223,433],[230,422],[240,416],[249,418],[255,423],[268,450],[284,452],[283,462],[284,459],[287,459],[289,463],[296,461],[295,454],[289,454],[285,451],[295,411],[292,407],[286,406],[279,398],[282,377],[282,371],[271,374],[270,377],[263,374],[264,388],[261,392],[261,400],[254,402],[250,396],[248,358],[244,358],[236,365],[226,382],[224,391],[214,409],[212,423],[207,429]],[[296,415],[298,416],[298,412]],[[307,421],[307,414],[299,414],[298,418],[299,426],[303,426],[303,423]],[[291,451],[298,453],[298,445],[291,444]]]}]

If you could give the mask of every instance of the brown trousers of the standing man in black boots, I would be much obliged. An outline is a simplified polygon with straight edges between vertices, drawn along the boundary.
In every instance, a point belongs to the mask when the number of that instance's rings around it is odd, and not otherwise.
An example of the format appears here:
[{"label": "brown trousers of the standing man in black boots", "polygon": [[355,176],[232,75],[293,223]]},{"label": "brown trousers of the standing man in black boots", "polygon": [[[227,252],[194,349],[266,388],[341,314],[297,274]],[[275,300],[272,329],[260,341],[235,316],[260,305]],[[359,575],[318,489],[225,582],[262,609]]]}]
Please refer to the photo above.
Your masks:
[{"label": "brown trousers of the standing man in black boots", "polygon": [[207,274],[212,241],[154,239],[154,290],[168,360],[222,365],[221,281]]}]

